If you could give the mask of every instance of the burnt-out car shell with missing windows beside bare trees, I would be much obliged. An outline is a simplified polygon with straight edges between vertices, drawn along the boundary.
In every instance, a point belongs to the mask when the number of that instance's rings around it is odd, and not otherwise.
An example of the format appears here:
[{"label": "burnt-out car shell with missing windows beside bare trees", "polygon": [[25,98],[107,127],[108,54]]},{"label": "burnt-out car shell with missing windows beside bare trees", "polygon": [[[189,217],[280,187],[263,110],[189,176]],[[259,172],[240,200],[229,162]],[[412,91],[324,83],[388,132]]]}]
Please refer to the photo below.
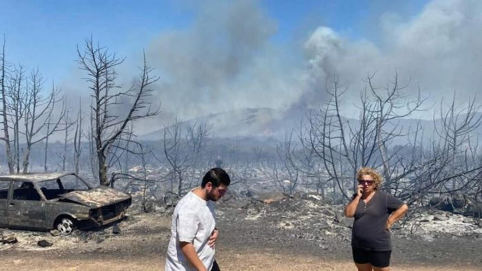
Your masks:
[{"label": "burnt-out car shell with missing windows beside bare trees", "polygon": [[0,227],[57,229],[103,226],[123,219],[132,197],[113,188],[92,188],[75,173],[0,176]]}]

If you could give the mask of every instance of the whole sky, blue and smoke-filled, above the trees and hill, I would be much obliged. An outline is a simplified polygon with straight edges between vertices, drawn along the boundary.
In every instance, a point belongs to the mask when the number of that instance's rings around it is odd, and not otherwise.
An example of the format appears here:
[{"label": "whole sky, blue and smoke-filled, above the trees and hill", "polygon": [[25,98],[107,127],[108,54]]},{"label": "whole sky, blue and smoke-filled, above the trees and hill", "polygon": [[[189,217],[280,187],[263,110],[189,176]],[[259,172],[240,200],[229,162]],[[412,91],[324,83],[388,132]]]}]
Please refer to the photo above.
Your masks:
[{"label": "whole sky, blue and smoke-filled, above the trees and hill", "polygon": [[[129,85],[147,63],[160,76],[153,124],[232,109],[299,114],[326,99],[337,76],[353,114],[365,78],[377,87],[398,75],[408,98],[432,105],[455,93],[463,104],[482,85],[482,1],[0,1],[6,60],[38,67],[72,100],[88,103],[77,46],[92,35],[125,56]],[[433,109],[433,110],[432,110]],[[356,116],[350,116],[356,117]]]}]

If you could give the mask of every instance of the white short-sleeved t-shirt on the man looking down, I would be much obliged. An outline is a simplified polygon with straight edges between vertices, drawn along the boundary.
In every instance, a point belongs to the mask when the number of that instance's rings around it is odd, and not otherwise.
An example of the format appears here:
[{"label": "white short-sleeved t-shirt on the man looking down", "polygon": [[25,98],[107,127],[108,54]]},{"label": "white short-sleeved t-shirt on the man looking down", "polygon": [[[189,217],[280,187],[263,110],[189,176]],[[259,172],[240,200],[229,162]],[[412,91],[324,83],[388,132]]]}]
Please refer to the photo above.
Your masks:
[{"label": "white short-sleeved t-shirt on the man looking down", "polygon": [[192,191],[182,197],[172,215],[171,240],[167,248],[165,269],[196,270],[180,249],[179,242],[184,241],[193,243],[199,259],[207,270],[211,270],[215,250],[207,245],[207,241],[215,227],[213,202],[201,199]]}]

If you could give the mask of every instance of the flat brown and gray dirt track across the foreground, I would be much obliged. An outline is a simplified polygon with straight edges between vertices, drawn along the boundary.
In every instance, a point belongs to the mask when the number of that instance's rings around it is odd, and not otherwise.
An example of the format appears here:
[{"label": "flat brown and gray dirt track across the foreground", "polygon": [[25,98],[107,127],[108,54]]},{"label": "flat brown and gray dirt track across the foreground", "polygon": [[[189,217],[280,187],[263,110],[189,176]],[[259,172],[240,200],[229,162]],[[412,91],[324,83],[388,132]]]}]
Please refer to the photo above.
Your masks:
[{"label": "flat brown and gray dirt track across the foreground", "polygon": [[[222,270],[356,270],[347,229],[306,239],[295,229],[273,228],[263,219],[242,219],[248,210],[221,208],[216,259]],[[164,270],[169,213],[131,215],[112,228],[49,232],[5,230],[18,243],[0,245],[0,270]],[[311,238],[311,237],[310,237]],[[53,246],[41,248],[45,239]],[[482,270],[481,237],[436,236],[426,241],[393,235],[392,270]]]}]

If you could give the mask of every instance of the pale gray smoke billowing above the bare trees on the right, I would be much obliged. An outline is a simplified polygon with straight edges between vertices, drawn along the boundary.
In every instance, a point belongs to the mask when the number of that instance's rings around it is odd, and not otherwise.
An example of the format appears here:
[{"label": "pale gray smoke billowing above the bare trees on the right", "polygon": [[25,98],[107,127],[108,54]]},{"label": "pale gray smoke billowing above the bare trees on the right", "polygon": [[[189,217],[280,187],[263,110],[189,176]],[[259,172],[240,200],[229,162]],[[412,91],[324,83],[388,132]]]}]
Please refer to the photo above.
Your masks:
[{"label": "pale gray smoke billowing above the bare trees on the right", "polygon": [[481,14],[481,1],[457,0],[432,1],[410,19],[384,13],[379,44],[343,39],[321,26],[304,44],[311,88],[300,102],[313,100],[311,92],[322,91],[326,78],[336,74],[349,85],[344,107],[349,111],[363,79],[374,72],[378,87],[386,87],[397,72],[403,83],[410,79],[409,94],[420,86],[432,103],[452,98],[454,91],[461,98],[474,96],[482,83]]}]

